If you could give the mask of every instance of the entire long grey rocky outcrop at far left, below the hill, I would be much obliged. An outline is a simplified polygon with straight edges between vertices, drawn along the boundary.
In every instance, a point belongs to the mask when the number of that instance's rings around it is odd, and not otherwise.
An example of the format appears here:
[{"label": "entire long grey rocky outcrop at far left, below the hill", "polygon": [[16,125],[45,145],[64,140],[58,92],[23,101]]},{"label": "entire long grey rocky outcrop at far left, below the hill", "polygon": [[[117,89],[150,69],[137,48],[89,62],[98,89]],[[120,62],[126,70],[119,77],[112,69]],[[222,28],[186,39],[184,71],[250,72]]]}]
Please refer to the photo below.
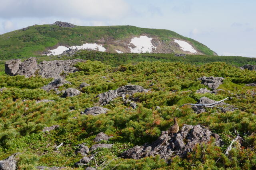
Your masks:
[{"label": "entire long grey rocky outcrop at far left, below the hill", "polygon": [[66,74],[76,72],[74,64],[85,62],[82,59],[42,61],[37,64],[36,58],[31,57],[24,62],[19,59],[5,63],[5,73],[11,76],[24,75],[26,77],[40,75],[43,78],[63,78]]}]

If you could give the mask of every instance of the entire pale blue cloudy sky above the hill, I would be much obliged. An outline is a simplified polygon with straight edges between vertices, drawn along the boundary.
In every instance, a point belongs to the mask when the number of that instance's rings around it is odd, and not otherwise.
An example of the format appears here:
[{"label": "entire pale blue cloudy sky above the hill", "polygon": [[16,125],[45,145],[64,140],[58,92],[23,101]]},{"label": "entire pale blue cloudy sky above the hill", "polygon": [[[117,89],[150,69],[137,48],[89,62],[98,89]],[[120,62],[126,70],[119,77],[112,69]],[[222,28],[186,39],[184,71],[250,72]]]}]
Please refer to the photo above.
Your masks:
[{"label": "entire pale blue cloudy sky above the hill", "polygon": [[0,0],[0,34],[34,24],[169,29],[218,55],[256,57],[256,0]]}]

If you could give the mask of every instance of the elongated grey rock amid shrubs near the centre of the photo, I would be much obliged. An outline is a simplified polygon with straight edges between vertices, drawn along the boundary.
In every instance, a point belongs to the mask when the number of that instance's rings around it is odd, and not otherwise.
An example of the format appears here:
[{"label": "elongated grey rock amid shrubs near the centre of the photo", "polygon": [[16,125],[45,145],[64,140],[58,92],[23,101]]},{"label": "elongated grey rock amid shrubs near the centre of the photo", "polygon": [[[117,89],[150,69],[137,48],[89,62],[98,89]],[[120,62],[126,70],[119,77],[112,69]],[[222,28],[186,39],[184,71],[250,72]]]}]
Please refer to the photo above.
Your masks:
[{"label": "elongated grey rock amid shrubs near the centre of the photo", "polygon": [[114,98],[122,97],[127,94],[132,95],[137,92],[148,92],[148,90],[144,89],[142,86],[126,85],[116,90],[109,90],[108,92],[101,93],[97,97],[100,98],[99,102],[101,105],[106,105],[109,102],[111,102]]}]

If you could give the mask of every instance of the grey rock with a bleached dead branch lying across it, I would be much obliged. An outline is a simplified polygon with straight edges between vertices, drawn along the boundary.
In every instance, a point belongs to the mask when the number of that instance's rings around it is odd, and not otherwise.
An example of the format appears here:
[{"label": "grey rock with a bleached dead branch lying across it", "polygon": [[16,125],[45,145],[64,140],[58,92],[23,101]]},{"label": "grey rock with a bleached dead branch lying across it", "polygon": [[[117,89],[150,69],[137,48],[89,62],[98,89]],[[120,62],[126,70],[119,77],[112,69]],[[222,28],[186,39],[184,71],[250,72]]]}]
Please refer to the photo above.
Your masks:
[{"label": "grey rock with a bleached dead branch lying across it", "polygon": [[[212,104],[216,102],[215,100],[212,100],[212,99],[209,99],[207,97],[202,97],[199,99],[199,102],[197,102],[196,104]],[[212,106],[224,106],[224,105],[228,105],[224,102],[220,102],[219,104],[215,104],[215,105],[212,105]],[[203,113],[203,112],[206,112],[206,109],[202,106],[192,106],[192,109],[197,113]],[[228,109],[228,110],[232,110],[232,109]],[[223,112],[225,111],[228,111],[228,110],[225,110],[225,109],[222,109]]]}]

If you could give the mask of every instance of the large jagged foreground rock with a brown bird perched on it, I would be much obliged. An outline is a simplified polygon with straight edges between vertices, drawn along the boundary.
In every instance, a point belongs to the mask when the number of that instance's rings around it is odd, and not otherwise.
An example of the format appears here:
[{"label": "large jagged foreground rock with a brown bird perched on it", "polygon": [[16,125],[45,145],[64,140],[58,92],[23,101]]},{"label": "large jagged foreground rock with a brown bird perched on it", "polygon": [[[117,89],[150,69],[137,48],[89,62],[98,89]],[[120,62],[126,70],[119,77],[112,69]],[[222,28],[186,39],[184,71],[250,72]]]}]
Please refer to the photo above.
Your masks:
[{"label": "large jagged foreground rock with a brown bird perched on it", "polygon": [[122,153],[125,158],[140,159],[146,156],[160,155],[161,158],[168,160],[171,156],[178,155],[182,158],[191,152],[196,144],[207,143],[210,137],[216,139],[215,144],[220,146],[222,141],[220,136],[204,129],[200,125],[183,125],[180,132],[168,135],[168,131],[162,131],[161,136],[152,144],[135,146]]}]

